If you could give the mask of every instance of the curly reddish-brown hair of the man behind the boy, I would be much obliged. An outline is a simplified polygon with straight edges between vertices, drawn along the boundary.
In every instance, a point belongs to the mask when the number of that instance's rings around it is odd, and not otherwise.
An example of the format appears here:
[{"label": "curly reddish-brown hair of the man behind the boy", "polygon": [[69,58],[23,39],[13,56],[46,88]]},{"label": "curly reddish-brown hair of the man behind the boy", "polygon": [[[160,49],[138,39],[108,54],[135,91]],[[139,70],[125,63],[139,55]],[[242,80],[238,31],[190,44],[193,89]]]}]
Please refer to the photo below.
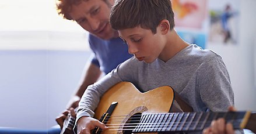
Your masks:
[{"label": "curly reddish-brown hair of the man behind the boy", "polygon": [[[73,5],[79,5],[82,1],[88,0],[56,0],[57,12],[59,15],[63,16],[64,19],[72,20],[69,13],[72,10]],[[108,0],[103,0],[108,5],[110,4]]]}]

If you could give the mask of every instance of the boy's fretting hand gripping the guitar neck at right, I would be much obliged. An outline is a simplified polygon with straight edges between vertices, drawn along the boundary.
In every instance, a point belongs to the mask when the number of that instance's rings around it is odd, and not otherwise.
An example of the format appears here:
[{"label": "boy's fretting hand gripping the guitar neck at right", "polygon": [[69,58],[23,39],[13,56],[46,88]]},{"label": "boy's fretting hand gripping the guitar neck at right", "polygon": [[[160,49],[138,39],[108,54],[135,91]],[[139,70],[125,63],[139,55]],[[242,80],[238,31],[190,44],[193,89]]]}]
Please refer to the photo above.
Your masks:
[{"label": "boy's fretting hand gripping the guitar neck at right", "polygon": [[[229,111],[236,111],[234,107],[229,107]],[[219,118],[215,121],[212,121],[211,126],[208,128],[204,129],[203,131],[204,134],[233,134],[234,129],[233,125],[230,123],[225,124],[225,119],[224,118]]]}]

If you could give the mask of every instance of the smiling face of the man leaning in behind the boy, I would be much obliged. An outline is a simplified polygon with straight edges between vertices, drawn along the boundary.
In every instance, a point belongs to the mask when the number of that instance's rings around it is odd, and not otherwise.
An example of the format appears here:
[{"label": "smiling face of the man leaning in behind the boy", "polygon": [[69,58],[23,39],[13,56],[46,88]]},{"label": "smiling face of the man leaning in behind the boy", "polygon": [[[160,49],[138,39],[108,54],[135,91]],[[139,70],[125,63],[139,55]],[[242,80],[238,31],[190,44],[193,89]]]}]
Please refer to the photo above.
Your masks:
[{"label": "smiling face of the man leaning in behind the boy", "polygon": [[118,33],[110,27],[110,8],[103,0],[82,1],[72,6],[69,15],[91,34],[101,39],[111,39],[118,37]]}]

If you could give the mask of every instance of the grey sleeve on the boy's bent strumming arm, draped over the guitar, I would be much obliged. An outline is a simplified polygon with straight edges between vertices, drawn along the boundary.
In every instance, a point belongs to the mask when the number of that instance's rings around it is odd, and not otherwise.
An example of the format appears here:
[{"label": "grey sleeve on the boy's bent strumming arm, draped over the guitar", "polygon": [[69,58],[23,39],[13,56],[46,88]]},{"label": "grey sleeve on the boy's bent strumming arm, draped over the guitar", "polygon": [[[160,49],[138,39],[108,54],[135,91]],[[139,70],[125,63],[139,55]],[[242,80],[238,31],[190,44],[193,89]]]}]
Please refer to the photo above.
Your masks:
[{"label": "grey sleeve on the boy's bent strumming arm, draped over the guitar", "polygon": [[131,59],[124,61],[124,63],[118,65],[117,68],[105,75],[99,81],[87,87],[79,102],[76,121],[83,116],[93,117],[94,110],[100,102],[100,97],[115,84],[122,81],[128,81],[128,79],[132,78],[132,74],[134,73],[131,73],[133,70],[131,64]]}]

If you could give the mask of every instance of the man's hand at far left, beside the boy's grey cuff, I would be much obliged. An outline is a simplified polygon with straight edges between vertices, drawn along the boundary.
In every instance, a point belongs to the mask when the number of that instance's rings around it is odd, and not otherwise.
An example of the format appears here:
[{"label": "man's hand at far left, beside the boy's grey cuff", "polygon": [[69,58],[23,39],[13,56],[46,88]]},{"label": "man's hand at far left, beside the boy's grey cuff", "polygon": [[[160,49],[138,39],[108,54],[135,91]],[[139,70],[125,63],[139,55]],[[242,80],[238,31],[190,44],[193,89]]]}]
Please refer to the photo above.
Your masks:
[{"label": "man's hand at far left, beside the boy's grey cuff", "polygon": [[63,128],[64,125],[64,121],[66,119],[66,117],[68,116],[68,114],[71,114],[72,117],[76,117],[76,113],[74,108],[69,108],[67,110],[65,110],[64,112],[62,112],[61,114],[58,115],[58,117],[56,117],[56,121],[59,124],[59,126],[61,126],[61,129]]}]

